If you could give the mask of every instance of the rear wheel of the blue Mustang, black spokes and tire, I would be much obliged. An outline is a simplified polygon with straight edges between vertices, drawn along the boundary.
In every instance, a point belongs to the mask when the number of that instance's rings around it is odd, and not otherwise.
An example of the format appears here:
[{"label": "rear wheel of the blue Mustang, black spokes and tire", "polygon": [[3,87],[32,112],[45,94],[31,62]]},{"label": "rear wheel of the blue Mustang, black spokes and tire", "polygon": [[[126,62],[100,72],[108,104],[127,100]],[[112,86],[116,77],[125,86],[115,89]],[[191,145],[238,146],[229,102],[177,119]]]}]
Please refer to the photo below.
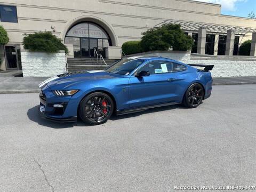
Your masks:
[{"label": "rear wheel of the blue Mustang, black spokes and tire", "polygon": [[199,83],[190,85],[183,97],[183,105],[188,108],[198,107],[204,98],[203,86]]}]

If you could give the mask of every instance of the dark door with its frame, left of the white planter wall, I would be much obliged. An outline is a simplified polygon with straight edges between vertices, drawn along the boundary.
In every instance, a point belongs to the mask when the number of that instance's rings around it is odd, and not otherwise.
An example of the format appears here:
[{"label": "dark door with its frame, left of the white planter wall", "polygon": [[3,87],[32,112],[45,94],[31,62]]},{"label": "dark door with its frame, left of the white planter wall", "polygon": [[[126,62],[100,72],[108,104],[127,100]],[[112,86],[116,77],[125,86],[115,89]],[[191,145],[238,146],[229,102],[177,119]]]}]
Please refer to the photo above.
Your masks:
[{"label": "dark door with its frame, left of the white planter wall", "polygon": [[5,63],[7,70],[21,69],[20,45],[5,45]]}]

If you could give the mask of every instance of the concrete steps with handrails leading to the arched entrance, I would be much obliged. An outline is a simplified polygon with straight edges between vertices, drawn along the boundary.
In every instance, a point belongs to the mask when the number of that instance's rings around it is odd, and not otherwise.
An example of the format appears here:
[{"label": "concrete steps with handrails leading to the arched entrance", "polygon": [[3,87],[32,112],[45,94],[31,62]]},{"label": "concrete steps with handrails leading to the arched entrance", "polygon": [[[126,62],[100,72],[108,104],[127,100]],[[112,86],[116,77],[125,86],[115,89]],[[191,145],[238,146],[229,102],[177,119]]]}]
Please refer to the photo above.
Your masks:
[{"label": "concrete steps with handrails leading to the arched entrance", "polygon": [[[111,65],[117,60],[105,59],[107,65]],[[102,61],[100,65],[95,58],[68,58],[68,72],[82,71],[82,70],[104,70],[107,66]]]}]

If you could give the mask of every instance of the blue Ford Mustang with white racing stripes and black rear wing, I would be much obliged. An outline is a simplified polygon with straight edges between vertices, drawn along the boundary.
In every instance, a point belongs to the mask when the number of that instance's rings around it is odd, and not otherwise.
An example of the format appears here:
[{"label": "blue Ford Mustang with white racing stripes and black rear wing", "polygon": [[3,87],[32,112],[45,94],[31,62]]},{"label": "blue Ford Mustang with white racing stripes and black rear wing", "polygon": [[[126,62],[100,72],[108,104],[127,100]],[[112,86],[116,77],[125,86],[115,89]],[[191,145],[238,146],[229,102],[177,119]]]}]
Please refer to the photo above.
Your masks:
[{"label": "blue Ford Mustang with white racing stripes and black rear wing", "polygon": [[210,70],[159,57],[133,57],[106,70],[61,74],[39,84],[40,111],[47,119],[104,123],[113,114],[183,103],[195,108],[212,91]]}]

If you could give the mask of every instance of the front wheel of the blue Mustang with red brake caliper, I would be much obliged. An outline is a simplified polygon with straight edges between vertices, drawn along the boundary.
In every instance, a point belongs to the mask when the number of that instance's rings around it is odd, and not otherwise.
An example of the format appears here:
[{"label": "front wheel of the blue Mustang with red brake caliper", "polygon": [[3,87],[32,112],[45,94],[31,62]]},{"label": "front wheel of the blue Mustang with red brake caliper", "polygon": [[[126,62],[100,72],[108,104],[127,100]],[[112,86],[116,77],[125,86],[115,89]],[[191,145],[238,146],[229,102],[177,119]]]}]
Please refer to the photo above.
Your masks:
[{"label": "front wheel of the blue Mustang with red brake caliper", "polygon": [[87,95],[79,105],[79,116],[91,125],[105,123],[113,114],[114,102],[106,93],[95,92]]}]

